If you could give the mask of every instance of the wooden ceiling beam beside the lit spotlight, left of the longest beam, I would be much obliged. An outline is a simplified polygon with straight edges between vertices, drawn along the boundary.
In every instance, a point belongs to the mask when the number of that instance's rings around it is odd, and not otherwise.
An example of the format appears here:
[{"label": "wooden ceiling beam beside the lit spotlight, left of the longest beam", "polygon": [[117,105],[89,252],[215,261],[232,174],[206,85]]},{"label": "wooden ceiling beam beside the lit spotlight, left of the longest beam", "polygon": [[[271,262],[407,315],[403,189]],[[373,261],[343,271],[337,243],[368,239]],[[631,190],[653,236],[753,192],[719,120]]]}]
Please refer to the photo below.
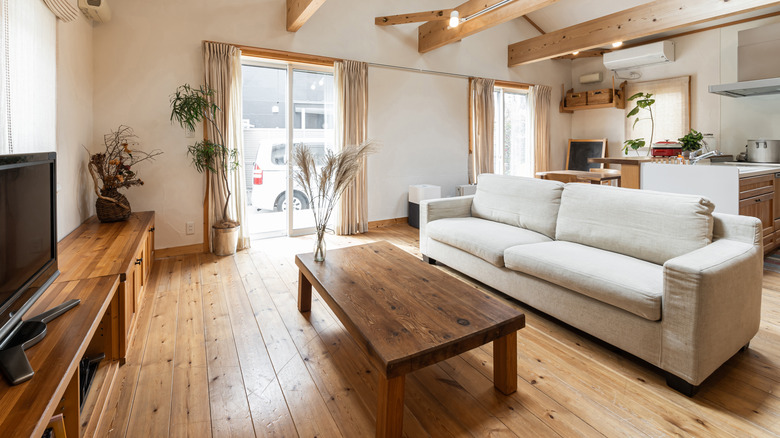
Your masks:
[{"label": "wooden ceiling beam beside the lit spotlight, left of the longest beam", "polygon": [[[430,52],[439,47],[459,41],[469,35],[506,23],[558,0],[517,0],[507,3],[498,9],[482,14],[471,20],[464,21],[458,27],[450,28],[446,21],[429,21],[420,26],[417,36],[417,51]],[[470,0],[456,7],[461,18],[479,12],[498,3],[498,0]]]}]

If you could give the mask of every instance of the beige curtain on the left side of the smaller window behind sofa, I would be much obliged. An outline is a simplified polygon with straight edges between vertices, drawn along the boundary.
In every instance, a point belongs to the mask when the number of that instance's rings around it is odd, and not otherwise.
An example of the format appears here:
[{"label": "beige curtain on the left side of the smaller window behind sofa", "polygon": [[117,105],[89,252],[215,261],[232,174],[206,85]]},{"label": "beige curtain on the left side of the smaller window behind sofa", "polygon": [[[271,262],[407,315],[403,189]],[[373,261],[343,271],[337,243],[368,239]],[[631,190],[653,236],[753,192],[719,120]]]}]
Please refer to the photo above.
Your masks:
[{"label": "beige curtain on the left side of the smaller window behind sofa", "polygon": [[481,173],[493,172],[493,79],[469,80],[469,182],[474,184]]}]

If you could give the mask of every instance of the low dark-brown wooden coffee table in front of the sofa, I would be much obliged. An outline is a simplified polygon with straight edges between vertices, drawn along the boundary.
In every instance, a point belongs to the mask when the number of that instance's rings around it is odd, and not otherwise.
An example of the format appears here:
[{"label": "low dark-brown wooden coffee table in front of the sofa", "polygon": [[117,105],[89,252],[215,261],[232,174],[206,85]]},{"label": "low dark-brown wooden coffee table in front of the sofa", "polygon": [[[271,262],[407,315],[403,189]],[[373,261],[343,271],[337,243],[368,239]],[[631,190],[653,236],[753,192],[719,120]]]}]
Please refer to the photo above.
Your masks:
[{"label": "low dark-brown wooden coffee table in front of the sofa", "polygon": [[298,309],[312,285],[379,370],[376,436],[403,431],[407,373],[493,341],[493,384],[517,390],[517,330],[525,315],[387,242],[295,256]]}]

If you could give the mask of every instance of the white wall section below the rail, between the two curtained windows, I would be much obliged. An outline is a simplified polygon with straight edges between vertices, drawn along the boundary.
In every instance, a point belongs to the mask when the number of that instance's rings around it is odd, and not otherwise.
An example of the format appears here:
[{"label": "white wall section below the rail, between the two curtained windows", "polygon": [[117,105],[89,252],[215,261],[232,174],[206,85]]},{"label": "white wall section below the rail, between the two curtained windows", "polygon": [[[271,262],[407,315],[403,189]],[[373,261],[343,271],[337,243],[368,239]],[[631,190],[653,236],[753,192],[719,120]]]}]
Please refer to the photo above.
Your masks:
[{"label": "white wall section below the rail, between the two curtained windows", "polygon": [[[382,142],[368,160],[369,220],[407,216],[412,184],[445,197],[468,184],[468,79],[370,68],[368,83],[368,136]],[[428,114],[409,117],[418,108]]]}]

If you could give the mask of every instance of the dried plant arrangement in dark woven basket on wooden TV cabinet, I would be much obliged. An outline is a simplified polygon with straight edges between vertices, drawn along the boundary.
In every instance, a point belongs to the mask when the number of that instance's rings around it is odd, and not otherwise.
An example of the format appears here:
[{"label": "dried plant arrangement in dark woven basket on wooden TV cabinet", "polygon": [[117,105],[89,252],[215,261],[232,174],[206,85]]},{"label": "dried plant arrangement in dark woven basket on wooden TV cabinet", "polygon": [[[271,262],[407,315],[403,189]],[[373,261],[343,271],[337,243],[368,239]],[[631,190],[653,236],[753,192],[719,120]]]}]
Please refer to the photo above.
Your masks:
[{"label": "dried plant arrangement in dark woven basket on wooden TV cabinet", "polygon": [[119,189],[144,185],[135,165],[162,154],[159,150],[147,153],[135,149],[137,139],[132,128],[119,125],[116,131],[103,136],[106,150],[89,156],[87,169],[95,184],[95,212],[100,222],[119,222],[130,217],[130,202]]}]

